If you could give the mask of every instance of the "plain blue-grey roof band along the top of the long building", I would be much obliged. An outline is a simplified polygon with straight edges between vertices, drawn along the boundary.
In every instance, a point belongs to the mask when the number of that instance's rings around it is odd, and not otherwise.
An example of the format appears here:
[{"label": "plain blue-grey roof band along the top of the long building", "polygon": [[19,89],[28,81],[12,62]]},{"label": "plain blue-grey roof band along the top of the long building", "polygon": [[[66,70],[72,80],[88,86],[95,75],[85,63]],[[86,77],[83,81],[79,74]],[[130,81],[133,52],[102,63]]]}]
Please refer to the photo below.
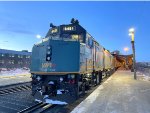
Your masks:
[{"label": "plain blue-grey roof band along the top of the long building", "polygon": [[7,49],[0,49],[0,53],[4,54],[19,54],[19,55],[31,55],[31,52],[27,51],[15,51],[15,50],[7,50]]}]

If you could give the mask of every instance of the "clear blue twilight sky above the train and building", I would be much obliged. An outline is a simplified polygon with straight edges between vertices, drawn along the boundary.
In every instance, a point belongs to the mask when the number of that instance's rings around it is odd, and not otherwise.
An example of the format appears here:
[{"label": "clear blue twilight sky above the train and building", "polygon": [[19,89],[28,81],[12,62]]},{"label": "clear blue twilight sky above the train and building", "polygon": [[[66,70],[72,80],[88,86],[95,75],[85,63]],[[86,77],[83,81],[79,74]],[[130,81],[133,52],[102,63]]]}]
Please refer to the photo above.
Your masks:
[{"label": "clear blue twilight sky above the train and building", "polygon": [[[137,61],[150,61],[150,2],[0,2],[0,48],[31,51],[52,22],[71,18],[106,49],[132,53],[128,29],[135,28]],[[129,47],[128,52],[123,48]]]}]

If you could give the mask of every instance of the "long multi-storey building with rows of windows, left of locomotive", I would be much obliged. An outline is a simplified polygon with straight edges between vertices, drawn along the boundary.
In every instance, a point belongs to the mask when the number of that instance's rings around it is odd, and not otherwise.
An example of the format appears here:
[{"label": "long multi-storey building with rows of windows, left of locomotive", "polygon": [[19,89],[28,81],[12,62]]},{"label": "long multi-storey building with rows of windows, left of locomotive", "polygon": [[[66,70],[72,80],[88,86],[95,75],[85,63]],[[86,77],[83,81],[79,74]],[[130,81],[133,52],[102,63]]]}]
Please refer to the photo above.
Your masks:
[{"label": "long multi-storey building with rows of windows, left of locomotive", "polygon": [[0,49],[0,68],[29,68],[31,52]]}]

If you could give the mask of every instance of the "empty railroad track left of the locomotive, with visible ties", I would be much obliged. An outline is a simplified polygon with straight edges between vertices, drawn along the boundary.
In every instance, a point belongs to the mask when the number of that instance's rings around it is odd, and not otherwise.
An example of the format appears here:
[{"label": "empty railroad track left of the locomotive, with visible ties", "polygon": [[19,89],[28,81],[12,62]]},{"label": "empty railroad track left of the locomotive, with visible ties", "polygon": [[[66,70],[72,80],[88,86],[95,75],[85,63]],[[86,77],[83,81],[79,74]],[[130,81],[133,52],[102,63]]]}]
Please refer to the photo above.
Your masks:
[{"label": "empty railroad track left of the locomotive, with visible ties", "polygon": [[2,87],[0,89],[0,96],[11,94],[11,93],[16,93],[20,91],[26,91],[26,90],[31,90],[30,82],[19,83],[19,84]]}]

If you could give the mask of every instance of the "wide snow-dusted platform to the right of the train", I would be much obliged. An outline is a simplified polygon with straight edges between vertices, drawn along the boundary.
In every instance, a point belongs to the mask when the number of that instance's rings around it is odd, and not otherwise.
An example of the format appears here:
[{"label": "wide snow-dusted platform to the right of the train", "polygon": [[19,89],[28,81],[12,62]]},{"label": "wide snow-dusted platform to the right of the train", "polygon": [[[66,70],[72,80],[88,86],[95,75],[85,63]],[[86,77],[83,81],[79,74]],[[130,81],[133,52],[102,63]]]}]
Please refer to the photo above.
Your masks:
[{"label": "wide snow-dusted platform to the right of the train", "polygon": [[119,70],[71,113],[150,113],[150,81]]}]

